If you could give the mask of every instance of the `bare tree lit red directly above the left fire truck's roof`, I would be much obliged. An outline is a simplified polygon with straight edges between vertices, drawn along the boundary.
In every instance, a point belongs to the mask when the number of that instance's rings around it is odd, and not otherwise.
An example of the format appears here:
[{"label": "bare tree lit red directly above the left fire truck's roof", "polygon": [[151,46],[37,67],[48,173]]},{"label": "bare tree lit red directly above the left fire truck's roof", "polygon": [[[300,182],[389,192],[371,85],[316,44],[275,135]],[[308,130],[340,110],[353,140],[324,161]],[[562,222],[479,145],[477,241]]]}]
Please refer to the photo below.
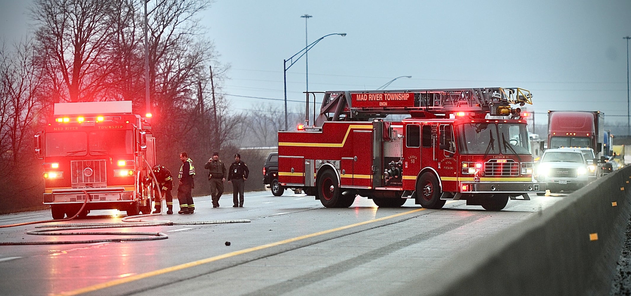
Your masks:
[{"label": "bare tree lit red directly above the left fire truck's roof", "polygon": [[50,80],[59,83],[59,98],[92,101],[109,85],[109,54],[114,37],[112,16],[117,0],[35,0],[30,14]]}]

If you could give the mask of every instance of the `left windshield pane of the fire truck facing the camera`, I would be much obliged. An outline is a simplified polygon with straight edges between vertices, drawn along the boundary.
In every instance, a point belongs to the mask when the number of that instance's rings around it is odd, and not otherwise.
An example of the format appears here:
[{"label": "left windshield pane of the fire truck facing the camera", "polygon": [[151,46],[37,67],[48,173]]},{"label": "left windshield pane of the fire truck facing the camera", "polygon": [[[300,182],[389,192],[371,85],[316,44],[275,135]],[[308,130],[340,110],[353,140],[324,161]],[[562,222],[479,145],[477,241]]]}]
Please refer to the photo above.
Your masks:
[{"label": "left windshield pane of the fire truck facing the camera", "polygon": [[88,153],[88,138],[83,131],[46,133],[45,143],[47,157],[85,156]]}]

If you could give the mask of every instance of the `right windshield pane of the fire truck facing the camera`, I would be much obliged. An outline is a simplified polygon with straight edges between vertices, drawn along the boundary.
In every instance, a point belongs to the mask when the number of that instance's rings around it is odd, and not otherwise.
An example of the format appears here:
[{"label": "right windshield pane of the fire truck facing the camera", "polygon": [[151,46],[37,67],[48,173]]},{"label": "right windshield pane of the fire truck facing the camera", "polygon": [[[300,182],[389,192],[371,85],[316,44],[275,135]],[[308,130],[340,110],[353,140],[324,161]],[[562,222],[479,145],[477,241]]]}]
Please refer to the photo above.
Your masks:
[{"label": "right windshield pane of the fire truck facing the camera", "polygon": [[131,130],[91,131],[90,155],[132,154],[134,134]]}]

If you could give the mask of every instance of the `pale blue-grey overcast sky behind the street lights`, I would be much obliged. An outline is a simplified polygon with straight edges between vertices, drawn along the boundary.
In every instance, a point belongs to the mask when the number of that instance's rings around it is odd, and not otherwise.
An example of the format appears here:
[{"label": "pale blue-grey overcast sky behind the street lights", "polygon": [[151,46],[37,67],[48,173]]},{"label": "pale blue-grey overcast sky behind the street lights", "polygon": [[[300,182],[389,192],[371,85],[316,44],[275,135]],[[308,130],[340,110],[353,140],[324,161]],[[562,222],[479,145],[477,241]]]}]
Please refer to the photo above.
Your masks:
[{"label": "pale blue-grey overcast sky behind the street lights", "polygon": [[[25,2],[0,0],[0,36],[27,32]],[[309,43],[348,34],[309,51],[310,91],[374,90],[410,75],[388,89],[521,87],[535,112],[601,110],[623,115],[610,123],[627,121],[629,0],[217,0],[200,16],[232,65],[224,91],[235,110],[283,104],[283,59],[305,47],[305,13]],[[304,102],[304,57],[287,86],[289,100]]]}]

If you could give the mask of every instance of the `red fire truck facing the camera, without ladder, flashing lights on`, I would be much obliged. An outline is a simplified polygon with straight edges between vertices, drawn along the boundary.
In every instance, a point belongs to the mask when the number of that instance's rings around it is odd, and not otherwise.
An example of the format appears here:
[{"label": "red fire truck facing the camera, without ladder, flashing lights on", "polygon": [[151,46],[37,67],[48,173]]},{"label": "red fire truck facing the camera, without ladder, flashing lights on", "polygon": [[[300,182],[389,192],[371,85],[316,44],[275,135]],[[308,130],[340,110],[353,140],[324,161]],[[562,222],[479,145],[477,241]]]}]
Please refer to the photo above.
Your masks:
[{"label": "red fire truck facing the camera, without ladder, flashing lights on", "polygon": [[[150,213],[151,190],[143,185],[155,163],[151,125],[132,114],[131,101],[60,103],[44,131],[35,134],[44,159],[44,204],[54,219],[90,210]],[[86,196],[87,193],[87,196]]]}]

